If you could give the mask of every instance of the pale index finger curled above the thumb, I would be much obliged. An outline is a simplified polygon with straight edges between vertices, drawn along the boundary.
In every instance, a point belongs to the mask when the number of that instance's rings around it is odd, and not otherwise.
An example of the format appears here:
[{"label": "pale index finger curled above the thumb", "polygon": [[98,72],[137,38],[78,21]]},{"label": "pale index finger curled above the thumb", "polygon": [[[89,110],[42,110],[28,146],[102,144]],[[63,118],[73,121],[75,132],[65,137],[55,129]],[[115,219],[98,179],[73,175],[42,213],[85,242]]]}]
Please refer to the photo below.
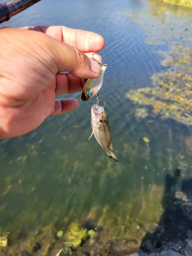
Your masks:
[{"label": "pale index finger curled above the thumb", "polygon": [[78,48],[82,52],[99,52],[103,49],[104,38],[94,32],[71,29],[65,26],[34,26],[23,29],[43,32],[58,41]]}]

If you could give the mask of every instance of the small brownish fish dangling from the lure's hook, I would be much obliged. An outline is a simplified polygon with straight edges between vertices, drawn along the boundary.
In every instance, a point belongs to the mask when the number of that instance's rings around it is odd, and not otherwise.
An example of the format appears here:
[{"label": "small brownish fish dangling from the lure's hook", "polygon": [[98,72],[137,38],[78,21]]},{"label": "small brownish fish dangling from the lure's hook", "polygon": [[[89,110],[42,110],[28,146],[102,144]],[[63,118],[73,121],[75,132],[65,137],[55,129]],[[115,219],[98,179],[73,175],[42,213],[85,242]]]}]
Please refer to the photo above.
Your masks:
[{"label": "small brownish fish dangling from the lure's hook", "polygon": [[[118,163],[116,156],[113,153],[113,145],[111,142],[110,126],[108,121],[108,115],[104,112],[102,106],[97,104],[92,105],[91,108],[91,126],[92,134],[100,146],[106,151],[106,154],[110,158],[113,158]],[[91,138],[89,137],[89,139]]]}]

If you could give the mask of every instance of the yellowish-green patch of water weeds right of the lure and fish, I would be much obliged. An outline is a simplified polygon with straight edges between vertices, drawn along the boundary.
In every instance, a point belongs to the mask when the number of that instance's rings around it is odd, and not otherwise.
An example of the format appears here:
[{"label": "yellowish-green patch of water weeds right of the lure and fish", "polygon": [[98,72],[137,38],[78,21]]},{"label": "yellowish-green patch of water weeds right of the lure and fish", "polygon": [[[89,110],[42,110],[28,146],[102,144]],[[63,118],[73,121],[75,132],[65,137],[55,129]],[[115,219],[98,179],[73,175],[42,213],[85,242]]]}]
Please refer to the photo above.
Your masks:
[{"label": "yellowish-green patch of water weeds right of the lure and fish", "polygon": [[[154,87],[127,92],[126,96],[145,108],[165,118],[192,124],[192,48],[178,44],[168,53],[159,52],[166,59],[167,71],[152,76]],[[136,113],[136,117],[138,113]],[[144,117],[147,116],[146,114]]]}]

